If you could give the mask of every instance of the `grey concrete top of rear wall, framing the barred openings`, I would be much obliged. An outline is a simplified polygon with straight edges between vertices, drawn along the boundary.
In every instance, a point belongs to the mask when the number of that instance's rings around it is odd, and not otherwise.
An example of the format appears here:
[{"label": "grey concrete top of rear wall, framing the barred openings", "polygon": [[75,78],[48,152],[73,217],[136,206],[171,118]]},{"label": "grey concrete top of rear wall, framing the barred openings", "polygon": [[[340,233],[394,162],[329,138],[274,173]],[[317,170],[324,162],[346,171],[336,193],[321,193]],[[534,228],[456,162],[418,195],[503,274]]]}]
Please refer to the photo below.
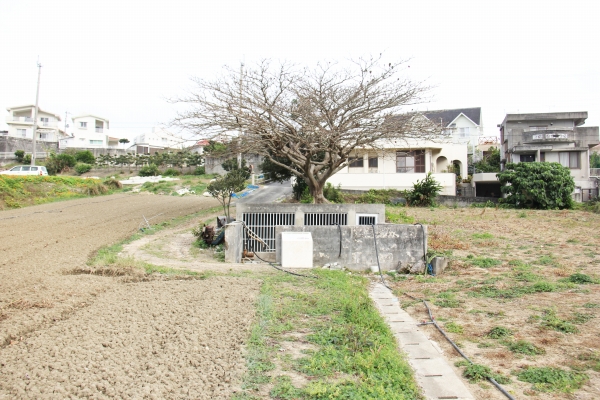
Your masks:
[{"label": "grey concrete top of rear wall, framing the barred openings", "polygon": [[357,214],[377,214],[377,223],[385,222],[383,204],[238,204],[235,218],[242,220],[243,213],[295,213],[296,226],[304,224],[304,213],[347,213],[348,225],[356,225]]}]

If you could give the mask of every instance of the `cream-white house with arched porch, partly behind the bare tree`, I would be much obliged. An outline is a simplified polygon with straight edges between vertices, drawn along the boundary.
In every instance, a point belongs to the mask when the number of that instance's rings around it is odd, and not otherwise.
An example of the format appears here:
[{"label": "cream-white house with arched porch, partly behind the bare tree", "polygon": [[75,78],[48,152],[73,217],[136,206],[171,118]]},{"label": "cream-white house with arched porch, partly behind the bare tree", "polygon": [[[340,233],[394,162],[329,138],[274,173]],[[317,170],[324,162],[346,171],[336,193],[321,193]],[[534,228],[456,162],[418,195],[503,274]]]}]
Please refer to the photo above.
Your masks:
[{"label": "cream-white house with arched porch, partly behind the bare tree", "polygon": [[[443,135],[435,140],[407,139],[402,143],[386,142],[377,146],[377,150],[355,150],[348,166],[329,178],[328,182],[348,190],[405,190],[412,189],[417,180],[424,179],[427,173],[431,172],[435,180],[442,185],[440,194],[456,195],[454,168],[459,169],[463,179],[467,178],[468,144],[472,137],[481,132],[480,119],[472,121],[471,117],[475,118],[473,114],[468,116],[469,113],[460,110],[424,114],[433,123],[442,124]],[[450,168],[452,171],[449,171],[449,166],[454,167]]]}]

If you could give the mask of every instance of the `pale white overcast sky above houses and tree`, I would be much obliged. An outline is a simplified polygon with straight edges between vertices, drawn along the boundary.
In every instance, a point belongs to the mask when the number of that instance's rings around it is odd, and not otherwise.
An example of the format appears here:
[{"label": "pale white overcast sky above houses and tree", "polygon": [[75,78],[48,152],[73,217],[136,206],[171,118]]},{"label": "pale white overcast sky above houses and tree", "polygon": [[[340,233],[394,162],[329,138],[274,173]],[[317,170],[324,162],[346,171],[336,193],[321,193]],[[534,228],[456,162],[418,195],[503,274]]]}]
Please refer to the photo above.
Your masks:
[{"label": "pale white overcast sky above houses and tree", "polygon": [[41,108],[132,137],[224,65],[383,52],[435,86],[421,109],[482,107],[487,135],[514,112],[588,111],[597,126],[599,22],[597,0],[0,0],[0,107],[35,103],[39,56]]}]

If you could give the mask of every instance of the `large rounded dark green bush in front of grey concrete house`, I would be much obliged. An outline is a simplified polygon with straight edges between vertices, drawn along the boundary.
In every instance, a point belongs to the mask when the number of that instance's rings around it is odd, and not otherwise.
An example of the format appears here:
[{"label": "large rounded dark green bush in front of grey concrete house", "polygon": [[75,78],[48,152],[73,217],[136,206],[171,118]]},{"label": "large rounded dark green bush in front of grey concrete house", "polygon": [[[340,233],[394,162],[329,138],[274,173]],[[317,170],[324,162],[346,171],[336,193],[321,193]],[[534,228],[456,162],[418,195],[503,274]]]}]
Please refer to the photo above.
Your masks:
[{"label": "large rounded dark green bush in front of grey concrete house", "polygon": [[506,195],[501,203],[541,210],[573,208],[575,182],[569,168],[559,163],[509,163],[497,176]]}]

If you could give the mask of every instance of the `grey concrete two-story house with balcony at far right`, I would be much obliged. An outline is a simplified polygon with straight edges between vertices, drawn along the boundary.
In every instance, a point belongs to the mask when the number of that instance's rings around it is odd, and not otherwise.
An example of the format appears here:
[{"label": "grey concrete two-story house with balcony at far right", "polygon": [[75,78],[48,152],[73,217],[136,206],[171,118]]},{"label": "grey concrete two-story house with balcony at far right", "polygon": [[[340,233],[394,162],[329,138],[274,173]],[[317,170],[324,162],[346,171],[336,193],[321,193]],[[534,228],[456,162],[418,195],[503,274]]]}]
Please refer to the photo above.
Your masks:
[{"label": "grey concrete two-story house with balcony at far right", "polygon": [[600,143],[600,136],[597,126],[581,126],[587,117],[586,111],[507,114],[498,125],[502,163],[558,162],[571,170],[575,195],[595,189],[589,152]]}]

